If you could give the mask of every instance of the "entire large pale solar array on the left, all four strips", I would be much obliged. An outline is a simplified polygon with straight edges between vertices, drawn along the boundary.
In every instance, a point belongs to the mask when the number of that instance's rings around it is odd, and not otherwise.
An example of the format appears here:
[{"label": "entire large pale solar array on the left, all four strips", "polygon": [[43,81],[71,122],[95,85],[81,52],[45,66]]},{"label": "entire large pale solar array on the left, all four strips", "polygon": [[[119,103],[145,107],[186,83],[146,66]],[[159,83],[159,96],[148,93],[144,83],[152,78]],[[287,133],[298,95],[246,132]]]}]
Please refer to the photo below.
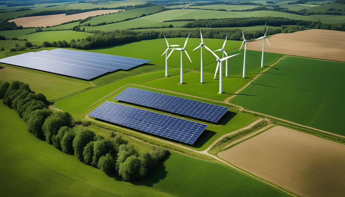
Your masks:
[{"label": "entire large pale solar array on the left, all four strips", "polygon": [[87,80],[119,69],[128,70],[149,61],[69,49],[28,52],[0,59],[0,63]]}]

